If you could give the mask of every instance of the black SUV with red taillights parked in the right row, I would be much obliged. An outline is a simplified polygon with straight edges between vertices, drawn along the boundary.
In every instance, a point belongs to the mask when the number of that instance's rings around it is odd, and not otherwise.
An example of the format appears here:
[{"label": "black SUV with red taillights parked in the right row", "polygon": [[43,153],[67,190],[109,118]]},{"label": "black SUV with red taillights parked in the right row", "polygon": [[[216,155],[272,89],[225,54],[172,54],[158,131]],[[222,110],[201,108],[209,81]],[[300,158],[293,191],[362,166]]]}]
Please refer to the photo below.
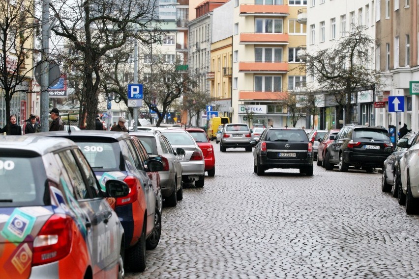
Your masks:
[{"label": "black SUV with red taillights parked in the right row", "polygon": [[325,168],[332,170],[339,164],[339,171],[348,171],[349,166],[362,167],[368,173],[373,168],[382,168],[392,152],[389,133],[384,127],[367,127],[348,124],[340,129],[336,138],[326,149]]}]

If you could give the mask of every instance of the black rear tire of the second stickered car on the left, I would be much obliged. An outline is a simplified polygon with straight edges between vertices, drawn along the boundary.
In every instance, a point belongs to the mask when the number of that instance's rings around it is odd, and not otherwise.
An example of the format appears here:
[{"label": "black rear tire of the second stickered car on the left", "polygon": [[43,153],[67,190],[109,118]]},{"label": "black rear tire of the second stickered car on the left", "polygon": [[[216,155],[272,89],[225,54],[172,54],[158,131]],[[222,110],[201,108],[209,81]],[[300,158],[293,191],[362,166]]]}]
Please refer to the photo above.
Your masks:
[{"label": "black rear tire of the second stickered car on the left", "polygon": [[131,272],[141,272],[146,269],[147,258],[146,258],[146,220],[144,217],[143,230],[141,231],[140,239],[138,242],[127,251],[125,259]]}]

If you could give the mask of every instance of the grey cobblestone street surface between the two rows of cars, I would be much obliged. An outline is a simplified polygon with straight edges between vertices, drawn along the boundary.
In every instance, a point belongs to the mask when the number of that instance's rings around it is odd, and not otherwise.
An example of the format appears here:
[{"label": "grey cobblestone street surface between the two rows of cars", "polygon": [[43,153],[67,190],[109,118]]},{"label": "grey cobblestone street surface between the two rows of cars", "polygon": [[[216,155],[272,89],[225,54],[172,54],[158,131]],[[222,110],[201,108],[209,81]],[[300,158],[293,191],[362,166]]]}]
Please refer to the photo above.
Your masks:
[{"label": "grey cobblestone street surface between the two rows of cars", "polygon": [[164,208],[158,247],[126,278],[418,278],[419,216],[381,174],[253,173],[252,152],[215,149],[215,177]]}]

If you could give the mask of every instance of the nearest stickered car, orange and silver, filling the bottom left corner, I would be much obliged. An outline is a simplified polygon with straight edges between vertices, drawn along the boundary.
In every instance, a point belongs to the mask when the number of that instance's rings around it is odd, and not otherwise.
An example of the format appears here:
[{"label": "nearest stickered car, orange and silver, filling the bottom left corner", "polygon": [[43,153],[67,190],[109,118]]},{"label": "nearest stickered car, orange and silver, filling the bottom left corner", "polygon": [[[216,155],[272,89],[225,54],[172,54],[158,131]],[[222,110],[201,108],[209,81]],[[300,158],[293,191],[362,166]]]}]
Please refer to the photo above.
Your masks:
[{"label": "nearest stickered car, orange and silver, filling the bottom left corner", "polygon": [[124,230],[107,200],[126,199],[126,183],[99,184],[68,139],[0,142],[0,278],[123,278]]}]

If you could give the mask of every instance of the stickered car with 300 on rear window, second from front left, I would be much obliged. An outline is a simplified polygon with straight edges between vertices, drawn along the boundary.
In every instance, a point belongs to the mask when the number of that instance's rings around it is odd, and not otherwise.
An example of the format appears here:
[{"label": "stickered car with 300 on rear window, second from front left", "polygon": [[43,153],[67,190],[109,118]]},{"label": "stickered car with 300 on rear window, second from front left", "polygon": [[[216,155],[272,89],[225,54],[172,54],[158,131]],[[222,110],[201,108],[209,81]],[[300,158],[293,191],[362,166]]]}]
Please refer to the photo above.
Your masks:
[{"label": "stickered car with 300 on rear window, second from front left", "polygon": [[126,132],[82,130],[38,134],[74,141],[102,185],[108,179],[119,179],[128,184],[128,196],[116,199],[112,206],[125,231],[125,264],[130,271],[144,271],[146,249],[157,247],[161,233],[155,225],[156,214],[160,213],[156,209],[152,180],[147,173],[161,171],[163,164],[150,159],[145,165],[134,139]]}]

